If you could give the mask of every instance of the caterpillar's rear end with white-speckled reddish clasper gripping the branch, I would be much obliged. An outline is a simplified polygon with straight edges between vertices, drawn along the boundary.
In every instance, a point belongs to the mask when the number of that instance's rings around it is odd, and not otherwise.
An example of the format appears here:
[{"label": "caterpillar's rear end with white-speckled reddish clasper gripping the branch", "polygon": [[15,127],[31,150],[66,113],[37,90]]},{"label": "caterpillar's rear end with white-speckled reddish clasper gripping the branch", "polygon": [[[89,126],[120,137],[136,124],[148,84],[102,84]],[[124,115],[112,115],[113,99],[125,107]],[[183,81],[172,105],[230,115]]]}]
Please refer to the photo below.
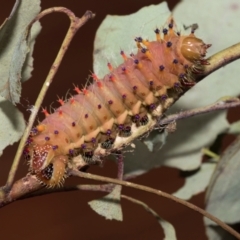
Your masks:
[{"label": "caterpillar's rear end with white-speckled reddish clasper gripping the branch", "polygon": [[29,152],[30,169],[48,187],[63,183],[66,172],[67,156],[57,155],[53,146],[35,145]]}]

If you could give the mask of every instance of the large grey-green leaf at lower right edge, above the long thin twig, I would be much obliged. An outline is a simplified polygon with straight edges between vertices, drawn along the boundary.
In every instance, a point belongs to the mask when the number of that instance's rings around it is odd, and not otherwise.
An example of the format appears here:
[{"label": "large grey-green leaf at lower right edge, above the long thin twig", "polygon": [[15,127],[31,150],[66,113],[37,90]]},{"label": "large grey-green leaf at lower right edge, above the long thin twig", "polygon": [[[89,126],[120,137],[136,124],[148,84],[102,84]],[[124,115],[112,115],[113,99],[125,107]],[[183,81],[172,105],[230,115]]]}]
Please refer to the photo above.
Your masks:
[{"label": "large grey-green leaf at lower right edge, above the long thin twig", "polygon": [[[206,209],[224,222],[240,222],[240,137],[223,153],[206,196]],[[206,224],[214,224],[210,220]],[[216,224],[214,224],[216,225]]]}]

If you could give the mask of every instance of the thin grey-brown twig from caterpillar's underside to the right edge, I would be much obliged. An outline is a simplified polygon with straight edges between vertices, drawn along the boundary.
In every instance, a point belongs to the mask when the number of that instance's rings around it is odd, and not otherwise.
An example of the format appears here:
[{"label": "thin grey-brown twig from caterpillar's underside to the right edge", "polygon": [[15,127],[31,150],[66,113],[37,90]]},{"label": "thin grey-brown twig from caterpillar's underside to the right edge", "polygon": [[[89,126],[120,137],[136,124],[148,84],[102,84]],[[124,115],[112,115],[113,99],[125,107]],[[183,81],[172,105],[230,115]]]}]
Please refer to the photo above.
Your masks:
[{"label": "thin grey-brown twig from caterpillar's underside to the right edge", "polygon": [[223,109],[239,107],[239,106],[240,106],[240,100],[238,98],[228,98],[226,100],[219,100],[216,103],[213,103],[205,107],[194,108],[191,110],[169,115],[166,118],[160,119],[158,124],[165,125],[173,121],[196,116],[202,113],[213,112],[217,110],[223,110]]}]

